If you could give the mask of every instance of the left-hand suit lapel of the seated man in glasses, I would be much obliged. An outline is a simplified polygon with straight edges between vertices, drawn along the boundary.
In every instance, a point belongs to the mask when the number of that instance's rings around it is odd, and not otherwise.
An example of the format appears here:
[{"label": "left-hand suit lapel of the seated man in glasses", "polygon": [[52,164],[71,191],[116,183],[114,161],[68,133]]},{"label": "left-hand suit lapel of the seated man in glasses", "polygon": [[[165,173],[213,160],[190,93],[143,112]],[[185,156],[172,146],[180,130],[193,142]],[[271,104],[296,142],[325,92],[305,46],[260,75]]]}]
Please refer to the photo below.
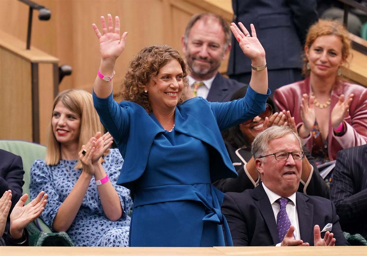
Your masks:
[{"label": "left-hand suit lapel of the seated man in glasses", "polygon": [[268,195],[266,195],[261,184],[252,190],[252,197],[255,199],[255,205],[258,207],[266,225],[268,226],[270,235],[273,239],[273,244],[277,244],[279,242],[279,237],[273,208],[270,204]]}]

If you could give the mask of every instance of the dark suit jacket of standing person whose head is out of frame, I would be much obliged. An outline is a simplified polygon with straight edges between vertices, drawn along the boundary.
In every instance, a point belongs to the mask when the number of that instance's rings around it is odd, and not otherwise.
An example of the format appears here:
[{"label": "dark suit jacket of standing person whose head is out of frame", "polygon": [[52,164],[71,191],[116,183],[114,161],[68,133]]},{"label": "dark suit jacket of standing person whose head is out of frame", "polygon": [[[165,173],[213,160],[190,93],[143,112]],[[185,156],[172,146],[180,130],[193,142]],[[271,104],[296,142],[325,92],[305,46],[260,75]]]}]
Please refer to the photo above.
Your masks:
[{"label": "dark suit jacket of standing person whose head is out of frame", "polygon": [[[250,24],[254,24],[266,52],[268,70],[302,67],[306,30],[317,21],[315,0],[232,0],[232,7],[233,22],[242,22],[249,31]],[[251,60],[243,55],[232,36],[227,73],[230,76],[248,72]]]}]

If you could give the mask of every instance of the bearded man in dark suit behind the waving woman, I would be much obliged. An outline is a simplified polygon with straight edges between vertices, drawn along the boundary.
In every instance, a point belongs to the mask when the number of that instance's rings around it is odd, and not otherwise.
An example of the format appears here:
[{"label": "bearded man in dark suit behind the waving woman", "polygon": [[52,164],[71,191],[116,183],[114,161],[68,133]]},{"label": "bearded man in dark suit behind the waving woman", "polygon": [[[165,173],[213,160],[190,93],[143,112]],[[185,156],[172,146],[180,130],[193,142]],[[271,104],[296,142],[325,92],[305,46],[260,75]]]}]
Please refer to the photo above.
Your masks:
[{"label": "bearded man in dark suit behind the waving woman", "polygon": [[245,86],[222,76],[218,70],[230,51],[231,31],[227,22],[212,13],[195,14],[182,36],[182,51],[191,69],[189,84],[194,96],[226,102]]}]

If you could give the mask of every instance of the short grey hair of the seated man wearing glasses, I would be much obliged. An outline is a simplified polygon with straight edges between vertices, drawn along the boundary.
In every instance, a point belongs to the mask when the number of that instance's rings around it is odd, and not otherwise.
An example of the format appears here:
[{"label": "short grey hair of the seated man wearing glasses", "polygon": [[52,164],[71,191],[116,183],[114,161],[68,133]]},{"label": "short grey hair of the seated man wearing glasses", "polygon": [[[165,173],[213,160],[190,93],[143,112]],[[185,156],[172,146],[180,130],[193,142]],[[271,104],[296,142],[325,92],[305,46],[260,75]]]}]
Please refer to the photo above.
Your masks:
[{"label": "short grey hair of the seated man wearing glasses", "polygon": [[[254,141],[252,141],[251,144],[251,153],[254,156],[254,159],[259,158],[260,156],[267,155],[266,153],[269,150],[269,141],[281,138],[287,134],[293,134],[294,137],[298,140],[299,148],[302,151],[303,142],[302,139],[298,136],[297,133],[292,130],[289,126],[271,126],[265,131],[262,131],[260,134],[258,134]],[[265,163],[265,158],[262,158],[262,161]]]}]

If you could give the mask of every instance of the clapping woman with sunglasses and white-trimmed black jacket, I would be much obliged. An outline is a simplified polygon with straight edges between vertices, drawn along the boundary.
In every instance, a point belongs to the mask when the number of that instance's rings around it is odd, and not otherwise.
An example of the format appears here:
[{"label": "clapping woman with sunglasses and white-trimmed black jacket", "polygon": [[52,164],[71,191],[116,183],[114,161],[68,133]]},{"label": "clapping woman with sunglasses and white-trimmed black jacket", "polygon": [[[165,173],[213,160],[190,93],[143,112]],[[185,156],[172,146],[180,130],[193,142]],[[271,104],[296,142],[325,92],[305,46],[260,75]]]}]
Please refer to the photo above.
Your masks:
[{"label": "clapping woman with sunglasses and white-trimmed black jacket", "polygon": [[[231,100],[243,97],[246,91],[247,87],[237,90]],[[289,125],[297,131],[294,118],[291,117],[289,111],[275,112],[275,110],[275,104],[269,97],[264,112],[222,132],[229,157],[238,173],[238,178],[222,179],[213,183],[219,190],[222,192],[242,192],[257,187],[260,176],[255,167],[254,157],[251,154],[251,143],[259,133],[273,125]],[[305,158],[302,160],[302,176],[298,191],[308,195],[329,198],[329,189],[322,180],[313,157],[305,146],[303,151],[305,152]]]}]

